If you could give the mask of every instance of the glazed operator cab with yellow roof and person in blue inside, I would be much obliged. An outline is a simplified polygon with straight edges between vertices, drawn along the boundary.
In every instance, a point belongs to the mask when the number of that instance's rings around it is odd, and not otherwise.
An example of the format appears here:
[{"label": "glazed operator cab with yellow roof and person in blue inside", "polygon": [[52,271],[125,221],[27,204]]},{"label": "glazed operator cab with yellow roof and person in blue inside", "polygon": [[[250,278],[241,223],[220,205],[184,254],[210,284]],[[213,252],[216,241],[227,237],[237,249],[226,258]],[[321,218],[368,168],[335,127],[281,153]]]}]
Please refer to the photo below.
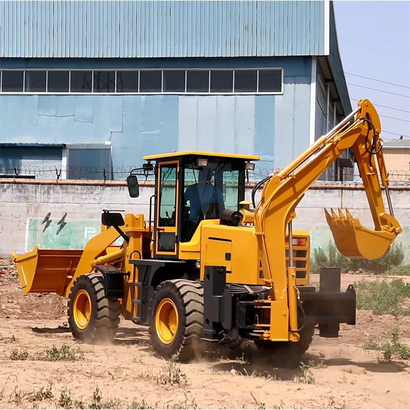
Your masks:
[{"label": "glazed operator cab with yellow roof and person in blue inside", "polygon": [[153,256],[177,259],[179,243],[192,239],[200,221],[238,209],[250,161],[259,157],[184,151],[144,159],[156,162]]}]

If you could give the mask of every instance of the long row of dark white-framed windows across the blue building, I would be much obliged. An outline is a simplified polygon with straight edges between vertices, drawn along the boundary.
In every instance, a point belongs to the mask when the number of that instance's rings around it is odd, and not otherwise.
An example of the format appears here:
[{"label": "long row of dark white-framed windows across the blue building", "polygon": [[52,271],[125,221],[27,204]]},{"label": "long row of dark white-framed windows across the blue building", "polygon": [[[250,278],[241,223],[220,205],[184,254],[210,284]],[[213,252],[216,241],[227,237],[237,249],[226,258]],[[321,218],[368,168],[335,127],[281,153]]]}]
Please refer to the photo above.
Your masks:
[{"label": "long row of dark white-framed windows across the blue building", "polygon": [[281,94],[283,70],[2,70],[0,92]]}]

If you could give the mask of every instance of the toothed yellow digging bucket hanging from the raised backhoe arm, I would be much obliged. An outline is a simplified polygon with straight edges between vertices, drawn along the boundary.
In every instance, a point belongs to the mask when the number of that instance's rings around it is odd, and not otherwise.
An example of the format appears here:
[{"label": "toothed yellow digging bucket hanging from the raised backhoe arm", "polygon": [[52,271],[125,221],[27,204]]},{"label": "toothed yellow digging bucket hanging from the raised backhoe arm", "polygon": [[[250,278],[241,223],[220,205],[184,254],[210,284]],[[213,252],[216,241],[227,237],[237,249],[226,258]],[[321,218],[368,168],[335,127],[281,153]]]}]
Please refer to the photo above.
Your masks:
[{"label": "toothed yellow digging bucket hanging from the raised backhoe arm", "polygon": [[373,231],[363,227],[359,219],[353,218],[346,208],[346,215],[339,208],[339,214],[331,209],[324,210],[326,221],[332,231],[336,247],[348,258],[377,259],[383,256],[396,238],[391,232]]}]

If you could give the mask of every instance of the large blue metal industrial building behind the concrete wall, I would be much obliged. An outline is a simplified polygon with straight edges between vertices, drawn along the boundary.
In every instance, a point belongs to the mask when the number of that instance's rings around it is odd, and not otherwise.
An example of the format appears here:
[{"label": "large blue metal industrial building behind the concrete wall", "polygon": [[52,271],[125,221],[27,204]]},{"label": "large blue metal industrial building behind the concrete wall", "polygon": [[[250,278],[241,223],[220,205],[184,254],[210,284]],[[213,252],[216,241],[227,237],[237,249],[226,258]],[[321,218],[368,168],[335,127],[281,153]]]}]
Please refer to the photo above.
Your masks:
[{"label": "large blue metal industrial building behind the concrete wall", "polygon": [[0,2],[3,175],[199,150],[259,155],[260,179],[351,111],[329,1]]}]

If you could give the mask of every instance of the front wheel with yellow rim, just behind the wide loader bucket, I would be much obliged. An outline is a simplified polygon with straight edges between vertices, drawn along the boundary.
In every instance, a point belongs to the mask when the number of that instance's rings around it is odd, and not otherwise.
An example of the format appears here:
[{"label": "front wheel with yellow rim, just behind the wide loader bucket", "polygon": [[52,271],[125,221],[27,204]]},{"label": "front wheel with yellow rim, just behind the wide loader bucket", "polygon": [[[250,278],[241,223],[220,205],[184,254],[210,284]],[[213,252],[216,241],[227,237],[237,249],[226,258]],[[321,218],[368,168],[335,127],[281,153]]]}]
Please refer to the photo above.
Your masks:
[{"label": "front wheel with yellow rim, just behind the wide loader bucket", "polygon": [[120,313],[118,299],[105,295],[103,275],[80,275],[74,281],[68,299],[68,321],[76,340],[91,344],[112,341]]}]

